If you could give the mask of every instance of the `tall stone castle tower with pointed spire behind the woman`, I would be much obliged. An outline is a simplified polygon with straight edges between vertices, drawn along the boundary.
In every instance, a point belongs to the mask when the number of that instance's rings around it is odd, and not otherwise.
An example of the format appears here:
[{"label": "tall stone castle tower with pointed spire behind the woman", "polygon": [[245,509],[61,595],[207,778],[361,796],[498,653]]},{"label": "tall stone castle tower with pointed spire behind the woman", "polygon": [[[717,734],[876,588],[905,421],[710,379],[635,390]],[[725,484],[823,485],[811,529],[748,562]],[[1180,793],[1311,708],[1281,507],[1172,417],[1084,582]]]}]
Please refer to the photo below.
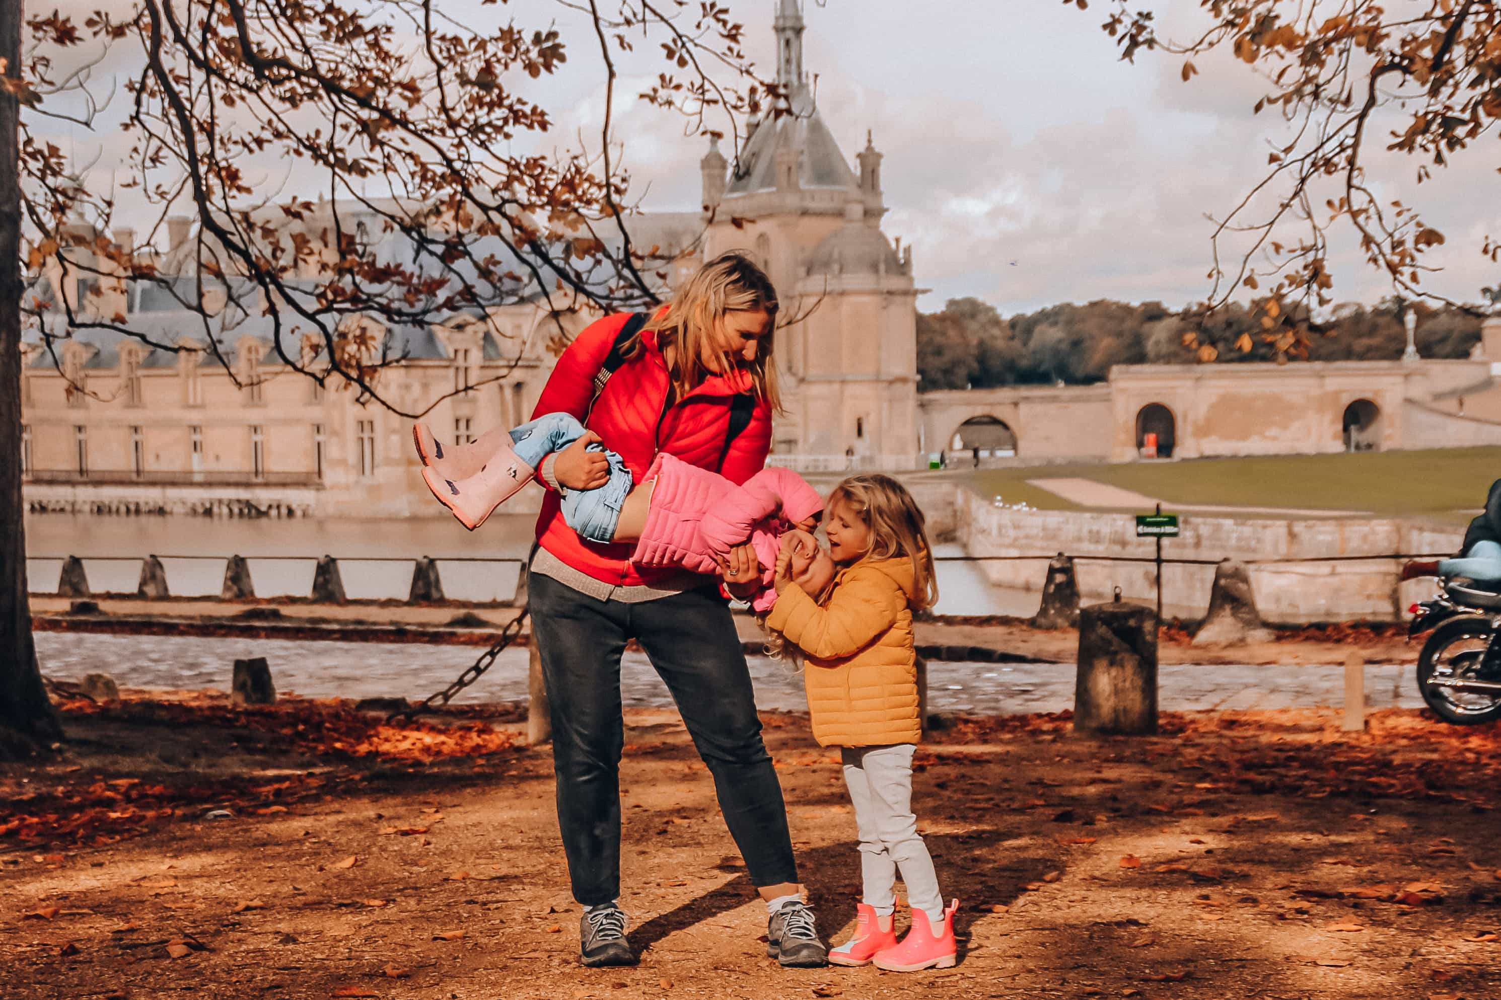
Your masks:
[{"label": "tall stone castle tower with pointed spire behind the woman", "polygon": [[[881,232],[883,156],[866,133],[857,172],[824,123],[803,69],[797,0],[778,0],[773,28],[787,100],[746,138],[704,255],[752,253],[776,285],[782,316],[799,318],[776,331],[787,414],[775,423],[775,460],[914,468],[917,289],[911,258]],[[711,168],[704,157],[705,204]]]}]

